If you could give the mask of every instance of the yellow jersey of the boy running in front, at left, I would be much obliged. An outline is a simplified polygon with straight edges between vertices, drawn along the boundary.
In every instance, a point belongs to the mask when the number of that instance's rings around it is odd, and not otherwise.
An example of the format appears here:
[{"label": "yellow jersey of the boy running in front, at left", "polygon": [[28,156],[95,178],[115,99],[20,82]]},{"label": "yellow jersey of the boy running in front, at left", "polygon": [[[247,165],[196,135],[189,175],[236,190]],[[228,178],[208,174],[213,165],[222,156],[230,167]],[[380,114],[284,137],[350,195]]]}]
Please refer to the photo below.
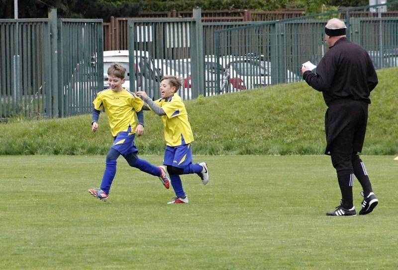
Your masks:
[{"label": "yellow jersey of the boy running in front, at left", "polygon": [[110,126],[112,136],[116,136],[119,132],[127,131],[131,126],[131,132],[135,133],[135,112],[139,112],[144,102],[134,93],[123,89],[120,92],[105,89],[97,93],[96,99],[93,101],[96,110],[104,109]]}]

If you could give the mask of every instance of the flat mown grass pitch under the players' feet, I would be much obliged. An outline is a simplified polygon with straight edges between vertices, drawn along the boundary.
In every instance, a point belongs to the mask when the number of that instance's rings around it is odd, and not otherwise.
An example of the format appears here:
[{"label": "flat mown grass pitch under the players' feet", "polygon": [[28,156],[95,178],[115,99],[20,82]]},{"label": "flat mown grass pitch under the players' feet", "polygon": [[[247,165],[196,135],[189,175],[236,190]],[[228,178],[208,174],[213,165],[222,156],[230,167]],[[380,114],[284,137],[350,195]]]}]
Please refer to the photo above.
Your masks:
[{"label": "flat mown grass pitch under the players' feet", "polygon": [[190,203],[168,205],[174,193],[122,159],[100,202],[87,189],[104,156],[0,156],[0,269],[398,269],[393,156],[363,156],[380,203],[354,217],[325,215],[340,199],[327,156],[195,160],[208,185],[183,176]]}]

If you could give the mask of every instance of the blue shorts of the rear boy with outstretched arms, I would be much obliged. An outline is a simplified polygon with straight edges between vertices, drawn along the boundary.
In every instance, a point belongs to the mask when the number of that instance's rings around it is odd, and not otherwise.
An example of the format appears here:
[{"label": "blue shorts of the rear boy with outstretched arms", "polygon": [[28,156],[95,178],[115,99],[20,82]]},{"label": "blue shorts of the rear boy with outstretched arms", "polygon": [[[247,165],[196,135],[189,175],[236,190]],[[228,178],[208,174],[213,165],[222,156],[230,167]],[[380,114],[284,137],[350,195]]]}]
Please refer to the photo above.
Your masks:
[{"label": "blue shorts of the rear boy with outstretched arms", "polygon": [[185,168],[192,163],[191,143],[179,146],[166,146],[163,164]]}]

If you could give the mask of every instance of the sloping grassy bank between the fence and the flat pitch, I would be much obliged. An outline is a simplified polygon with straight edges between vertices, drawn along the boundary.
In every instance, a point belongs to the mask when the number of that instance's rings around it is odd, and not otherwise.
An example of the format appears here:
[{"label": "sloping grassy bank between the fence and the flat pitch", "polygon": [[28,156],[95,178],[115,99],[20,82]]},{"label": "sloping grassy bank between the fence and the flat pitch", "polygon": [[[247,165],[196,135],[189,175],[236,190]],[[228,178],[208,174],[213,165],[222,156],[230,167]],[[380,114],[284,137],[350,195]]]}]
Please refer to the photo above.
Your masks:
[{"label": "sloping grassy bank between the fence and the flat pitch", "polygon": [[[398,153],[398,68],[378,70],[371,94],[363,153]],[[201,155],[313,155],[325,147],[321,93],[305,82],[268,86],[185,101]],[[143,154],[162,154],[165,143],[160,118],[145,112],[145,134],[136,138]],[[105,114],[91,132],[91,115],[64,119],[18,120],[0,124],[1,155],[105,154],[112,142]]]}]

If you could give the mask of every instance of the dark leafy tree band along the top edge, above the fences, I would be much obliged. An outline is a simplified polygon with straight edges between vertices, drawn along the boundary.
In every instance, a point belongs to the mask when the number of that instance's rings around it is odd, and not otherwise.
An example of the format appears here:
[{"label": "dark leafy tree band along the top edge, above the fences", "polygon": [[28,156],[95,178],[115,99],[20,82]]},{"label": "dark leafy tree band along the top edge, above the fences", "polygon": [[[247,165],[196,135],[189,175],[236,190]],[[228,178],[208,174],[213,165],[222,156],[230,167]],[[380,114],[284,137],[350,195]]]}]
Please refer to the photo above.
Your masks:
[{"label": "dark leafy tree band along the top edge, above the fences", "polygon": [[[56,7],[61,18],[102,18],[104,21],[109,21],[110,16],[134,17],[140,11],[184,11],[197,6],[202,10],[299,7],[313,14],[368,3],[369,0],[18,0],[18,17],[47,17],[49,7]],[[13,0],[0,0],[0,18],[13,17]]]}]

